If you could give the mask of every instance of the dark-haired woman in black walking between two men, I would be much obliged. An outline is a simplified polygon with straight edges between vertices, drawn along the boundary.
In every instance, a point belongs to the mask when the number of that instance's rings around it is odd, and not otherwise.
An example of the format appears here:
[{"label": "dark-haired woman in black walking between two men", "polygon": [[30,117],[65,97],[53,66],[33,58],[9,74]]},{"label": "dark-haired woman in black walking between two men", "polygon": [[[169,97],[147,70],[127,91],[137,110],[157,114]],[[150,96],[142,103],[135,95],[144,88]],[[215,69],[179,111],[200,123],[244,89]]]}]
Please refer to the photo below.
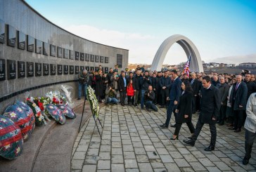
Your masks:
[{"label": "dark-haired woman in black walking between two men", "polygon": [[181,84],[182,93],[181,97],[179,98],[179,105],[175,112],[177,113],[176,118],[176,128],[174,135],[170,140],[179,139],[179,131],[181,129],[181,125],[186,123],[188,128],[193,134],[195,132],[195,127],[193,126],[192,120],[192,100],[193,100],[193,89],[191,88],[191,84],[189,81],[183,81]]}]

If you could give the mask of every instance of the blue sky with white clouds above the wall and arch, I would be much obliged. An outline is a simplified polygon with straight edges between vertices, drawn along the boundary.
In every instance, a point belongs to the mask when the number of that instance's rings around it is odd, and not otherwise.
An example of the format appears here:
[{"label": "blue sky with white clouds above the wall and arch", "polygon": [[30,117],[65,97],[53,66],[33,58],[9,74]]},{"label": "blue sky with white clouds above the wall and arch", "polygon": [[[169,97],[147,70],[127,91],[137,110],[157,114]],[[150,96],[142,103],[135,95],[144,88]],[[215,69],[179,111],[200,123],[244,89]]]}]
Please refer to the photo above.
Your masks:
[{"label": "blue sky with white clouds above the wall and arch", "polygon": [[[191,39],[205,62],[256,54],[255,0],[26,1],[73,34],[129,49],[129,63],[151,64],[162,41],[173,34]],[[184,61],[186,54],[174,44],[164,64]]]}]

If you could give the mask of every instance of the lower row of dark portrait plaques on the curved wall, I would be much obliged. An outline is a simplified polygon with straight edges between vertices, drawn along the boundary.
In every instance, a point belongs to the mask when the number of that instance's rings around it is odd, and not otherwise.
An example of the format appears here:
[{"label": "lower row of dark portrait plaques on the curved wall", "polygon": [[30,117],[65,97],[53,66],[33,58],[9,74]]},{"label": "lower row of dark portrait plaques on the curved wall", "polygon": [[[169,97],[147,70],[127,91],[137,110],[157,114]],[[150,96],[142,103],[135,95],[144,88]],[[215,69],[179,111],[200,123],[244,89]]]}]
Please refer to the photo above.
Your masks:
[{"label": "lower row of dark portrait plaques on the curved wall", "polygon": [[[17,67],[16,67],[17,65]],[[98,67],[89,66],[74,66],[74,65],[55,65],[41,62],[23,62],[18,61],[16,64],[15,60],[0,59],[0,81],[6,80],[6,68],[7,68],[7,79],[16,79],[24,77],[40,77],[56,75],[56,74],[78,74],[79,70],[87,71],[98,71]],[[102,67],[103,72],[108,72],[108,67]],[[27,69],[27,70],[26,70]],[[27,73],[27,75],[26,75]]]}]

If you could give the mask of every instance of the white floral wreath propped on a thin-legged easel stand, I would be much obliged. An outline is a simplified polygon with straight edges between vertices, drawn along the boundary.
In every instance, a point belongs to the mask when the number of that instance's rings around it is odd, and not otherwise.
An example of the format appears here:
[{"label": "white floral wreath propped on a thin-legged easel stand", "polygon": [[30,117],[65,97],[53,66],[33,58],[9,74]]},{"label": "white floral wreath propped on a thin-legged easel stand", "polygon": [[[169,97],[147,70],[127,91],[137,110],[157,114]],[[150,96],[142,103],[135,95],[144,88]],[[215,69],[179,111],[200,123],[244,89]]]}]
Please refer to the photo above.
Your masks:
[{"label": "white floral wreath propped on a thin-legged easel stand", "polygon": [[98,118],[100,107],[98,106],[98,100],[91,86],[87,87],[87,100],[89,100],[92,114],[94,115],[94,117]]}]

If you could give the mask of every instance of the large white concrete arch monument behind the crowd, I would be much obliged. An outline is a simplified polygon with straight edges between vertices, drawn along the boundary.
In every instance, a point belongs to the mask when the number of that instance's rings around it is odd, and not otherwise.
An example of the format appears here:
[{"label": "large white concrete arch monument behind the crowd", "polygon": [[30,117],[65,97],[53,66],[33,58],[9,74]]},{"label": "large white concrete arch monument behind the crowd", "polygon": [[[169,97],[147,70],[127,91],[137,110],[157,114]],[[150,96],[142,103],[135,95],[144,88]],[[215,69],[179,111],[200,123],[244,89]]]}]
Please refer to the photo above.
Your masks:
[{"label": "large white concrete arch monument behind the crowd", "polygon": [[193,42],[184,37],[181,34],[174,34],[171,37],[165,39],[162,42],[161,46],[158,48],[158,51],[155,53],[155,58],[151,65],[151,70],[160,71],[162,68],[162,63],[165,60],[165,56],[169,51],[169,48],[177,42],[185,51],[187,58],[191,54],[191,65],[189,67],[191,72],[203,72],[203,62],[200,58],[198,48],[193,44]]}]

